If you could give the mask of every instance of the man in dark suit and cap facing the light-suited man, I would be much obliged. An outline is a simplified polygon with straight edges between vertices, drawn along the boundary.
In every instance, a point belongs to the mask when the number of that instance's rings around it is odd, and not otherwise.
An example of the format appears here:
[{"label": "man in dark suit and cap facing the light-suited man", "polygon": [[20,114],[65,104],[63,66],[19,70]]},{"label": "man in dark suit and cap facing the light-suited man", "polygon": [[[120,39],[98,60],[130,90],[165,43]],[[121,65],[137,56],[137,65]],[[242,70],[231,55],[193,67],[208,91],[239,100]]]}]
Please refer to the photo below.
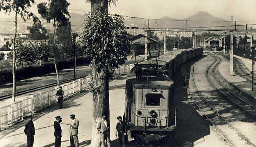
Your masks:
[{"label": "man in dark suit and cap facing the light-suited man", "polygon": [[54,122],[54,136],[55,136],[55,147],[61,146],[61,137],[62,137],[62,129],[60,123],[62,122],[62,118],[60,116],[55,117],[56,121]]}]

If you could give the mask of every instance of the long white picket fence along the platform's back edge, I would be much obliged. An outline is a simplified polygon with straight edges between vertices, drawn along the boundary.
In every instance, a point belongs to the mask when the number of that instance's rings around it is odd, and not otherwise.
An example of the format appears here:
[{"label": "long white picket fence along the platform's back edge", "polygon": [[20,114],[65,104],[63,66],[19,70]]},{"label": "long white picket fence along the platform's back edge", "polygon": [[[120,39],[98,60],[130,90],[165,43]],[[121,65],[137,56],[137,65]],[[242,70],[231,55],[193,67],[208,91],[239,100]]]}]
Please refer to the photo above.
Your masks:
[{"label": "long white picket fence along the platform's back edge", "polygon": [[[120,66],[115,70],[115,75],[126,74],[133,67],[133,64]],[[86,87],[90,82],[91,76],[87,76],[61,85],[62,90],[64,91],[64,99],[86,91]],[[38,91],[39,93],[35,93],[22,100],[0,107],[0,131],[22,121],[27,115],[40,112],[47,109],[49,106],[56,104],[56,91],[57,87]]]}]

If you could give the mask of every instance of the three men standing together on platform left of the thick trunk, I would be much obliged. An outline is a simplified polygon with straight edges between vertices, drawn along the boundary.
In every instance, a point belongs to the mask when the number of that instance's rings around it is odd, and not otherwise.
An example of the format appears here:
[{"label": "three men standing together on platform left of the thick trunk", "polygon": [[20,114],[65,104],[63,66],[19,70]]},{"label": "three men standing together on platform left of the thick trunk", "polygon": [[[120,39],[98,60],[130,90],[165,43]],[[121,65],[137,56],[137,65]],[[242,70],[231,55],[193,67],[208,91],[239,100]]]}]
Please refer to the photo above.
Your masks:
[{"label": "three men standing together on platform left of the thick trunk", "polygon": [[[33,117],[28,116],[29,120],[25,124],[25,134],[27,136],[27,147],[32,147],[34,144],[34,135],[35,135],[35,128],[33,123]],[[54,121],[54,136],[55,136],[55,147],[61,146],[61,137],[62,137],[62,129],[60,123],[62,122],[62,118],[60,116],[56,116],[56,121]],[[71,123],[70,123],[70,144],[71,147],[79,147],[79,140],[78,140],[78,127],[79,121],[75,118],[75,115],[70,115]]]}]

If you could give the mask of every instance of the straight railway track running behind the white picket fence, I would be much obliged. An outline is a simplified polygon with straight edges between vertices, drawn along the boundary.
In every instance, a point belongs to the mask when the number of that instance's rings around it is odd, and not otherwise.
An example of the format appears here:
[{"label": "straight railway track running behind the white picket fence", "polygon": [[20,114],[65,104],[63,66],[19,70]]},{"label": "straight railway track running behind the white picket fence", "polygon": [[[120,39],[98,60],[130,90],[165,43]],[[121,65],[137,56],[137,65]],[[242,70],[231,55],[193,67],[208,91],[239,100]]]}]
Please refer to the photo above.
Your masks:
[{"label": "straight railway track running behind the white picket fence", "polygon": [[[83,77],[81,77],[81,78],[83,78]],[[60,84],[68,83],[68,82],[71,82],[71,81],[74,81],[74,80],[69,79],[69,80],[61,81]],[[37,90],[42,90],[42,89],[54,87],[56,85],[57,85],[57,83],[52,83],[52,84],[48,84],[48,85],[44,85],[44,86],[39,86],[39,87],[19,91],[19,92],[16,92],[16,96],[20,96],[20,95],[23,95],[23,94],[34,92],[34,91],[37,91]],[[0,96],[0,100],[8,99],[8,98],[11,98],[11,97],[12,97],[12,94],[7,94],[7,95],[4,95],[4,96]]]}]

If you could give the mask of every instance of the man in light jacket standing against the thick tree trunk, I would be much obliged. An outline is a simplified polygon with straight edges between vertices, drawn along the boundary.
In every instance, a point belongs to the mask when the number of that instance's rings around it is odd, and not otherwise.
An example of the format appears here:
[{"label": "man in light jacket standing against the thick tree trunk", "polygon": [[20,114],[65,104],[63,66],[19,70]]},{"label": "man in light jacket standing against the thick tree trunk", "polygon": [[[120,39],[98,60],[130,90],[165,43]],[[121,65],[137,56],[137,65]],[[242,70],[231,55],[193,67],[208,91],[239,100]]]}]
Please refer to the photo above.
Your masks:
[{"label": "man in light jacket standing against the thick tree trunk", "polygon": [[107,147],[110,147],[110,139],[109,139],[109,124],[106,121],[106,116],[103,115],[102,119],[99,120],[97,124],[97,129],[100,133],[101,146],[105,146],[104,142],[106,140]]}]

